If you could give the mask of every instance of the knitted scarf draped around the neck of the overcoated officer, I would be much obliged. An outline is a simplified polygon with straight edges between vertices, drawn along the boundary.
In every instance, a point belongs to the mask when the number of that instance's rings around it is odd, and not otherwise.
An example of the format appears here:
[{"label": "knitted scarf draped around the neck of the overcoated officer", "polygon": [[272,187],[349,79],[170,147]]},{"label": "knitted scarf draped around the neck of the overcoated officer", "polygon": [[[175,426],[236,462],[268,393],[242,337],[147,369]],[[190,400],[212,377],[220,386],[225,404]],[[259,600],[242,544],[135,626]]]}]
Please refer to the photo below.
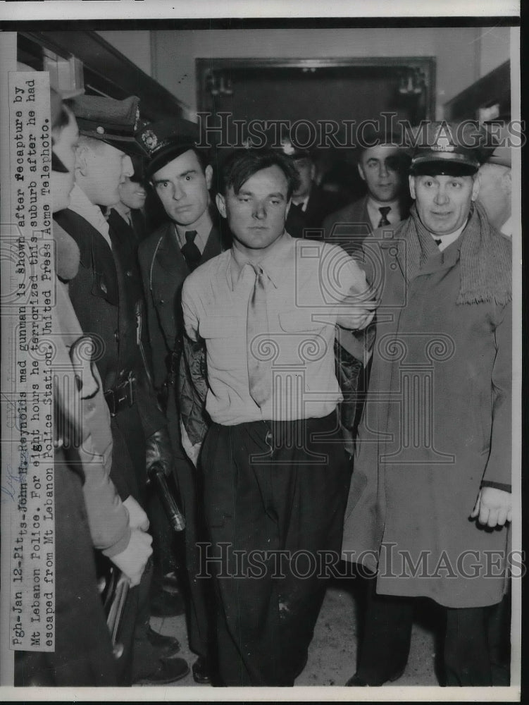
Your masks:
[{"label": "knitted scarf draped around the neck of the overcoated officer", "polygon": [[[400,239],[399,261],[405,263],[406,281],[410,281],[426,259],[439,250],[421,223],[415,204],[410,209],[410,217],[401,223],[395,235]],[[478,203],[473,204],[460,237],[461,278],[456,304],[494,301],[505,305],[512,297],[511,240],[490,224]]]}]

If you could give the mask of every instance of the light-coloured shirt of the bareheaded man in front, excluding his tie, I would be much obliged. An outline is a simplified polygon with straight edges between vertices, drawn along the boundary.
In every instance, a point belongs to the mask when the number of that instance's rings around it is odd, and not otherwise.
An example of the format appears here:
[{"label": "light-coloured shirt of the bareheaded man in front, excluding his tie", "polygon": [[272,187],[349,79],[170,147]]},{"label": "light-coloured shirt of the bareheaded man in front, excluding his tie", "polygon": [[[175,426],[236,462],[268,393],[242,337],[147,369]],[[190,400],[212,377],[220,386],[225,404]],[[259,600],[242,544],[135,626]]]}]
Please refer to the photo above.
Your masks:
[{"label": "light-coloured shirt of the bareheaded man in front, excluding his tie", "polygon": [[[337,316],[358,302],[358,294],[366,294],[366,276],[341,247],[287,233],[259,264],[269,278],[269,332],[262,342],[264,348],[269,341],[273,389],[263,407],[251,398],[248,379],[247,314],[254,269],[232,249],[185,280],[185,330],[192,340],[206,341],[206,410],[226,426],[324,417],[342,400],[335,376]],[[344,302],[347,294],[354,296]]]}]

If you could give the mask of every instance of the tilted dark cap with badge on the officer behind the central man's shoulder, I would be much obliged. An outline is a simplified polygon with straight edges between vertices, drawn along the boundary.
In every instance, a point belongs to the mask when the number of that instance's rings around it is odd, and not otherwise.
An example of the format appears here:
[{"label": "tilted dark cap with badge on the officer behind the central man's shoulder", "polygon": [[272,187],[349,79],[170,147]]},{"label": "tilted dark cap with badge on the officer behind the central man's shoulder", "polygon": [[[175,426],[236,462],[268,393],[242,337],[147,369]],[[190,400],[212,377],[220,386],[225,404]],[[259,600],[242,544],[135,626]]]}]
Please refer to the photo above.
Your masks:
[{"label": "tilted dark cap with badge on the officer behind the central man's shoulder", "polygon": [[197,149],[199,130],[188,120],[174,118],[144,125],[138,130],[136,139],[150,159],[147,164],[147,176],[150,178],[188,149]]}]

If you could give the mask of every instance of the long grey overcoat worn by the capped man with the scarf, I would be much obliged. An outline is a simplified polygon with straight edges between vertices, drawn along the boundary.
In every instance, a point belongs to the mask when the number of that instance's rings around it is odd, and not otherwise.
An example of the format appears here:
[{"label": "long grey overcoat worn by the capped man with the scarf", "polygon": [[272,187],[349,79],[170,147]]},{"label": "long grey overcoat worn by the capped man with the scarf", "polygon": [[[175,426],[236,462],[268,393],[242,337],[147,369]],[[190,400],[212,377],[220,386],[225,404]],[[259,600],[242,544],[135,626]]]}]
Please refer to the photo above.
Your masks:
[{"label": "long grey overcoat worn by the capped man with the scarf", "polygon": [[456,304],[466,231],[444,252],[432,240],[406,285],[404,223],[363,248],[381,303],[344,558],[378,568],[380,594],[492,605],[509,529],[470,515],[482,482],[510,489],[511,305]]}]

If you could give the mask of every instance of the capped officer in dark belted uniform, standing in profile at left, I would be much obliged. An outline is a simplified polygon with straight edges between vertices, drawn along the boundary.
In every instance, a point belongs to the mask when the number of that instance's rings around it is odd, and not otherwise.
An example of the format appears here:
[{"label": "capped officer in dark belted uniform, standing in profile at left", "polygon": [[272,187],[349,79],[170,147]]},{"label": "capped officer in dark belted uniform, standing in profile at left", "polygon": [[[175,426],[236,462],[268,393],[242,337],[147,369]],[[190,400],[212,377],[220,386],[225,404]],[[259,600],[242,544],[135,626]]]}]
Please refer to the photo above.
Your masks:
[{"label": "capped officer in dark belted uniform, standing in profile at left", "polygon": [[[142,359],[141,310],[100,208],[118,202],[118,185],[127,169],[132,171],[125,150],[137,149],[138,102],[136,97],[74,99],[80,129],[75,186],[70,208],[57,221],[80,249],[80,269],[70,283],[70,297],[83,331],[99,345],[94,359],[111,412],[111,478],[129,510],[131,525],[147,527],[142,509],[147,474],[155,462],[170,472],[170,441]],[[125,606],[121,685],[131,680],[173,682],[189,672],[183,659],[162,657],[174,656],[178,642],[149,630],[150,579],[151,570],[146,570]]]}]

